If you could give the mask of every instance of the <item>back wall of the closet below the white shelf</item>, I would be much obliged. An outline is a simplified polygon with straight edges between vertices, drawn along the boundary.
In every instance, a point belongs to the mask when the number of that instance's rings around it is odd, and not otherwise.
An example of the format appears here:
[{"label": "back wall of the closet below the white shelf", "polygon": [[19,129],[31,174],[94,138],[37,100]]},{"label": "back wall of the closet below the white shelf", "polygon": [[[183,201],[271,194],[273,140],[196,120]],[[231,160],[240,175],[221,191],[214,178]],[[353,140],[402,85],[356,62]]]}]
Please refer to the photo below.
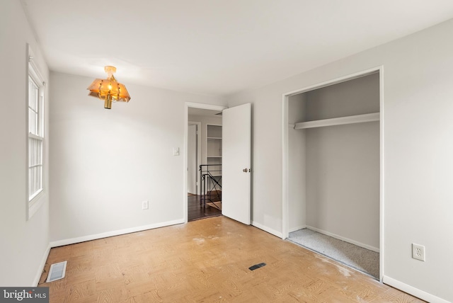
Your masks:
[{"label": "back wall of the closet below the white shelf", "polygon": [[305,144],[306,225],[379,250],[379,122],[309,128]]}]

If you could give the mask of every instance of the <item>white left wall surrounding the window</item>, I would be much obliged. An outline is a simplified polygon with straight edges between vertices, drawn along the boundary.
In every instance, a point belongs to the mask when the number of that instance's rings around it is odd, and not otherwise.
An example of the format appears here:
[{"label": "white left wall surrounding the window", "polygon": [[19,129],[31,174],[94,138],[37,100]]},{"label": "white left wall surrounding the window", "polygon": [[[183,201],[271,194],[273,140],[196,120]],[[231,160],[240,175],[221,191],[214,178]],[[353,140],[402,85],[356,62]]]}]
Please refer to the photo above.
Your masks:
[{"label": "white left wall surrounding the window", "polygon": [[[35,286],[40,278],[49,244],[48,159],[45,159],[43,205],[25,219],[28,178],[25,113],[28,89],[26,44],[33,48],[35,62],[48,79],[47,65],[30,30],[19,1],[0,1],[0,285]],[[48,88],[48,86],[47,86]],[[47,92],[47,89],[46,89]],[[48,93],[45,94],[48,96]],[[47,98],[45,100],[47,105]],[[47,115],[48,118],[48,115]],[[45,121],[47,128],[47,119]],[[45,132],[45,149],[48,147]],[[48,149],[47,149],[48,150]]]}]

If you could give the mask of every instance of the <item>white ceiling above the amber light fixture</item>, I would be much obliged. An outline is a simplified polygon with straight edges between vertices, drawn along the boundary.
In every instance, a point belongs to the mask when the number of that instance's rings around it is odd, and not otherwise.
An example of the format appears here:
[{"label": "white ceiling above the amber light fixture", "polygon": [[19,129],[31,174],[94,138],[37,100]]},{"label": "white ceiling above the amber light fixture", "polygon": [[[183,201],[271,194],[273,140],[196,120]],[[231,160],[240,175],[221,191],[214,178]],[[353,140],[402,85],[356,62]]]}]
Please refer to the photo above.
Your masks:
[{"label": "white ceiling above the amber light fixture", "polygon": [[[453,18],[452,0],[21,0],[52,71],[228,96]],[[446,39],[448,39],[446,37]]]}]

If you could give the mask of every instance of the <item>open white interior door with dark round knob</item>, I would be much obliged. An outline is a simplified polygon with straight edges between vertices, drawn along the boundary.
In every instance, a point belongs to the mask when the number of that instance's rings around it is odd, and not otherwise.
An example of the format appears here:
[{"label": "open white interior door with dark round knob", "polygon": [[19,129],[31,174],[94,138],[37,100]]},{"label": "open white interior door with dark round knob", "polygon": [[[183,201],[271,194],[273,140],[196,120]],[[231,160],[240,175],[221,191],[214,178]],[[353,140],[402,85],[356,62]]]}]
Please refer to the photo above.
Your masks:
[{"label": "open white interior door with dark round knob", "polygon": [[222,112],[222,215],[251,223],[251,104]]}]

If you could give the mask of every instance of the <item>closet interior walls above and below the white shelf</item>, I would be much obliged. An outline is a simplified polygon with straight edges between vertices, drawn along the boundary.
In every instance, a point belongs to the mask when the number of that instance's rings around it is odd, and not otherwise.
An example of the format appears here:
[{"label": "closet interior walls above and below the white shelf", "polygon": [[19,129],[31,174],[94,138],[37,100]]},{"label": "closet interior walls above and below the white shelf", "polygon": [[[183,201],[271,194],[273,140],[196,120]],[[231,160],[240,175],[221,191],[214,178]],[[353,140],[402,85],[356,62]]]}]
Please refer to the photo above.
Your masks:
[{"label": "closet interior walls above and below the white shelf", "polygon": [[[289,99],[289,113],[302,110],[299,122],[378,113],[379,74],[302,95]],[[306,227],[378,250],[379,121],[313,127],[290,133],[294,132],[302,132],[299,137],[289,135],[289,149],[303,149],[300,154],[304,161],[294,164],[305,168],[305,176],[299,180],[305,179],[300,202],[305,205]],[[292,167],[294,156],[290,156],[289,161]],[[290,195],[301,190],[296,185],[289,186]],[[289,200],[290,214],[293,210],[300,212],[300,205],[295,201]],[[292,231],[303,219],[289,222]]]}]

